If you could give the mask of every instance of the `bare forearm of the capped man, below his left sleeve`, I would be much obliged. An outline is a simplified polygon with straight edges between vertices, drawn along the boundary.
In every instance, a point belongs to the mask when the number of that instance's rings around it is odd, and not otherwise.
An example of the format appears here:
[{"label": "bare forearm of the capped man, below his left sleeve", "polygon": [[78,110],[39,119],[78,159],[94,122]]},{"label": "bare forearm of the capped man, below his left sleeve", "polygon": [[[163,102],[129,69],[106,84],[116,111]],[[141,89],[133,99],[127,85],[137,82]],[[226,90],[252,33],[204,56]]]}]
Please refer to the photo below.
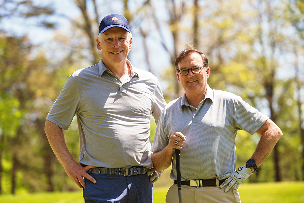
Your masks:
[{"label": "bare forearm of the capped man, below his left sleeve", "polygon": [[67,149],[63,130],[51,121],[46,120],[44,131],[54,154],[65,168],[68,163],[74,161],[74,159],[70,151]]}]

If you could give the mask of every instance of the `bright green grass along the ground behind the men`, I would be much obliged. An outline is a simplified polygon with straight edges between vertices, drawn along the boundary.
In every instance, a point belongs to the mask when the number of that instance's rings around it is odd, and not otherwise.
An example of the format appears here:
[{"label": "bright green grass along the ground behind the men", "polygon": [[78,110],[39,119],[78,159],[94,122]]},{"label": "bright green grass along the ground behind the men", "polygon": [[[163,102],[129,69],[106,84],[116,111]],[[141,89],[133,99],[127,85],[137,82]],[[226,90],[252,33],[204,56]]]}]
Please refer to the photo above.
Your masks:
[{"label": "bright green grass along the ground behind the men", "polygon": [[[154,203],[164,203],[168,187],[154,188]],[[239,187],[242,203],[303,203],[304,182],[251,183]],[[1,203],[83,203],[82,191],[0,195]]]}]

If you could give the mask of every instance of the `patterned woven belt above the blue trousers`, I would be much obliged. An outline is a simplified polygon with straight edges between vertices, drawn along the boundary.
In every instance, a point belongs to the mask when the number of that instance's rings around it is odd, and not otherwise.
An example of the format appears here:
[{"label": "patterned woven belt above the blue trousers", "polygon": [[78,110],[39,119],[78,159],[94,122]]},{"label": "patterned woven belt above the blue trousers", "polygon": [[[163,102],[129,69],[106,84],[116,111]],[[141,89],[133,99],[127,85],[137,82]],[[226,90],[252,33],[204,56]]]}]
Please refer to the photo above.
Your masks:
[{"label": "patterned woven belt above the blue trousers", "polygon": [[103,174],[103,175],[124,175],[124,176],[132,176],[132,175],[140,175],[148,172],[148,168],[146,167],[132,167],[132,168],[91,168],[87,171],[87,173],[93,174]]}]

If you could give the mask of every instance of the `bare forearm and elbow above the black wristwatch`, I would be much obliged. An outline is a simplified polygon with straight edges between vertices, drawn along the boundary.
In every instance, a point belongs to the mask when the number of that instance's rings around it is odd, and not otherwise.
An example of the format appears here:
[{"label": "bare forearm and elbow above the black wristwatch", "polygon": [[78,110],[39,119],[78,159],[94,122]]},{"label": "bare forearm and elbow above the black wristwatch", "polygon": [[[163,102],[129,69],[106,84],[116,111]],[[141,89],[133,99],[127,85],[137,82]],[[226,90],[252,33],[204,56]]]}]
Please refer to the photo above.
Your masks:
[{"label": "bare forearm and elbow above the black wristwatch", "polygon": [[260,131],[257,131],[257,133],[261,135],[261,139],[258,142],[257,148],[251,156],[251,159],[254,159],[257,166],[260,166],[270,155],[278,140],[282,137],[282,131],[274,122],[268,119],[263,125],[263,128]]}]

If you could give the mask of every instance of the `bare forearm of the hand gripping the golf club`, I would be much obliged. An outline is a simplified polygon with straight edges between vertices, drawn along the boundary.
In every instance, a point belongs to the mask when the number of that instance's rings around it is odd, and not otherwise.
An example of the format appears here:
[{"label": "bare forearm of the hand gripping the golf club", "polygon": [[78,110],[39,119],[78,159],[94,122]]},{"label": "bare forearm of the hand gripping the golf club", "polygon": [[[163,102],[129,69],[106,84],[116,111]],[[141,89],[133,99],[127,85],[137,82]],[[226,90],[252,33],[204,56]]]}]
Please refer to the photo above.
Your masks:
[{"label": "bare forearm of the hand gripping the golf club", "polygon": [[158,173],[171,165],[173,151],[166,146],[163,150],[152,154],[153,167]]}]

